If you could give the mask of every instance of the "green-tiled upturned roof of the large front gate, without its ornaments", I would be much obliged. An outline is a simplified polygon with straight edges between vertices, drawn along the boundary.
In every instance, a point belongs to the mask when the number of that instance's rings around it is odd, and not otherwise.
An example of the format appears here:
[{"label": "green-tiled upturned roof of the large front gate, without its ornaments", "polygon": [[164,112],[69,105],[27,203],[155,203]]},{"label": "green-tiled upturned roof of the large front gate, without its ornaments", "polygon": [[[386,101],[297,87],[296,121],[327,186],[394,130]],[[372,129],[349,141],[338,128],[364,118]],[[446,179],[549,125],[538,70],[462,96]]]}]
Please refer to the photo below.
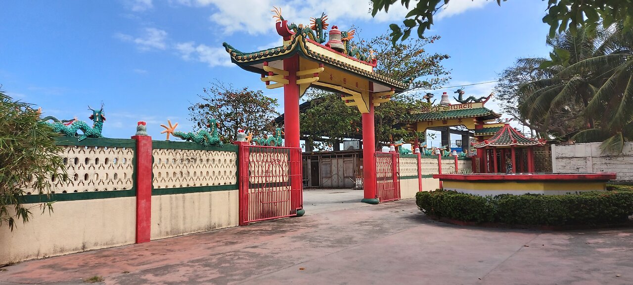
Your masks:
[{"label": "green-tiled upturned roof of the large front gate, without its ornaments", "polygon": [[[271,61],[280,61],[290,58],[294,54],[300,54],[302,58],[306,58],[316,63],[323,63],[327,66],[337,68],[339,70],[348,71],[355,75],[366,78],[372,82],[383,85],[385,90],[394,88],[402,91],[409,87],[410,82],[400,82],[387,76],[379,75],[373,72],[375,63],[360,61],[352,56],[341,54],[339,52],[318,44],[314,40],[308,39],[303,33],[291,35],[290,39],[284,41],[284,45],[263,49],[255,52],[242,52],[232,45],[224,42],[222,44],[226,51],[229,52],[231,61],[244,70],[265,74],[263,63]],[[380,91],[380,90],[379,90]]]}]

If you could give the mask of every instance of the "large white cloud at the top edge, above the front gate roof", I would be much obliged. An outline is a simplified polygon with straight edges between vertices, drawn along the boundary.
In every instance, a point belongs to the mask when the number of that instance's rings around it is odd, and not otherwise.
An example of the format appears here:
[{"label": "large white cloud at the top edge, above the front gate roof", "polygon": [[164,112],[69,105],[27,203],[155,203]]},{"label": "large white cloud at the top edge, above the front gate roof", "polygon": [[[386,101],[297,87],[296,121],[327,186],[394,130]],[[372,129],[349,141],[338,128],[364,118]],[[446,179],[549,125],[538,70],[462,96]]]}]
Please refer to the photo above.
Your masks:
[{"label": "large white cloud at the top edge, above the front gate roof", "polygon": [[[372,20],[368,0],[322,0],[322,1],[277,1],[243,0],[239,4],[226,0],[172,0],[172,4],[185,6],[213,7],[209,20],[218,25],[217,30],[231,34],[247,32],[251,35],[274,31],[273,6],[282,8],[282,15],[289,23],[310,23],[311,16],[327,13],[329,23],[346,27],[354,20]],[[380,11],[373,21],[395,21],[400,23],[407,9],[399,3],[389,8],[389,13]],[[385,28],[386,29],[386,28]]]}]

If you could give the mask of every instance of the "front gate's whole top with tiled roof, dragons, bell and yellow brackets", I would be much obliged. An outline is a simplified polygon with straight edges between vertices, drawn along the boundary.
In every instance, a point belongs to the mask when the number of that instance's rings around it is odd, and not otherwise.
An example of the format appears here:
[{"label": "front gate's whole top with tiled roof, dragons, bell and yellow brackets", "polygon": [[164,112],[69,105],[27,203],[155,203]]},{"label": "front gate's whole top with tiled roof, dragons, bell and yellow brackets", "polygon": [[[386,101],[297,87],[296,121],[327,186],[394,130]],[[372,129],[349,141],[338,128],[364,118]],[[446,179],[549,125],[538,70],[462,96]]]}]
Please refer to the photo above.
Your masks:
[{"label": "front gate's whole top with tiled roof, dragons, bell and yellow brackets", "polygon": [[[347,106],[356,106],[361,113],[373,106],[391,100],[391,96],[408,88],[410,82],[401,82],[373,72],[377,64],[371,51],[368,55],[354,46],[355,31],[339,30],[332,26],[329,41],[325,30],[329,27],[325,13],[311,18],[309,25],[290,23],[281,9],[272,10],[275,28],[283,37],[279,47],[256,52],[242,52],[226,42],[231,61],[244,70],[260,73],[266,88],[280,88],[289,84],[289,76],[296,74],[299,95],[311,85],[316,88],[344,94]],[[326,43],[327,42],[327,43]],[[284,59],[298,56],[298,66],[284,66]],[[293,82],[294,79],[292,79]],[[292,84],[291,84],[292,85]],[[370,92],[373,92],[370,100]]]}]

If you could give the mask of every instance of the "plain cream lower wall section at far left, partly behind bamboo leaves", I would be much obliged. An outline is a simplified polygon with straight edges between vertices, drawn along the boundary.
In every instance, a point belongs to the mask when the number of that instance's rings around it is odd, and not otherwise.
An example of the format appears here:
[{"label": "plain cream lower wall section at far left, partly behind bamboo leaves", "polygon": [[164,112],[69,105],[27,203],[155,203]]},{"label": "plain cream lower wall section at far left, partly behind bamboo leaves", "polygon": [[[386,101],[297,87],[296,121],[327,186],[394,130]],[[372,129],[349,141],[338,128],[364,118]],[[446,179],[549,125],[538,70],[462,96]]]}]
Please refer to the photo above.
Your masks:
[{"label": "plain cream lower wall section at far left, partly behind bamboo leaves", "polygon": [[36,206],[30,221],[18,222],[13,232],[6,224],[0,227],[0,264],[135,241],[135,197],[56,202],[53,209],[41,214]]}]

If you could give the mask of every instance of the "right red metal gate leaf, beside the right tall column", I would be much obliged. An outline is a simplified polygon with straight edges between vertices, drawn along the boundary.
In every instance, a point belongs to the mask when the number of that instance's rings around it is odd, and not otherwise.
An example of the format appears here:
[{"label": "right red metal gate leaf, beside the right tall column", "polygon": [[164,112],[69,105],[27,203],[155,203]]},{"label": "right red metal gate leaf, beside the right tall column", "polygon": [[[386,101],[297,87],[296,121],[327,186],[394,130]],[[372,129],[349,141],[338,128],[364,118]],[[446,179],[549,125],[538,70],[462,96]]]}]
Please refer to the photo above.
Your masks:
[{"label": "right red metal gate leaf, beside the right tall column", "polygon": [[380,202],[400,199],[400,155],[376,152],[376,195]]}]

